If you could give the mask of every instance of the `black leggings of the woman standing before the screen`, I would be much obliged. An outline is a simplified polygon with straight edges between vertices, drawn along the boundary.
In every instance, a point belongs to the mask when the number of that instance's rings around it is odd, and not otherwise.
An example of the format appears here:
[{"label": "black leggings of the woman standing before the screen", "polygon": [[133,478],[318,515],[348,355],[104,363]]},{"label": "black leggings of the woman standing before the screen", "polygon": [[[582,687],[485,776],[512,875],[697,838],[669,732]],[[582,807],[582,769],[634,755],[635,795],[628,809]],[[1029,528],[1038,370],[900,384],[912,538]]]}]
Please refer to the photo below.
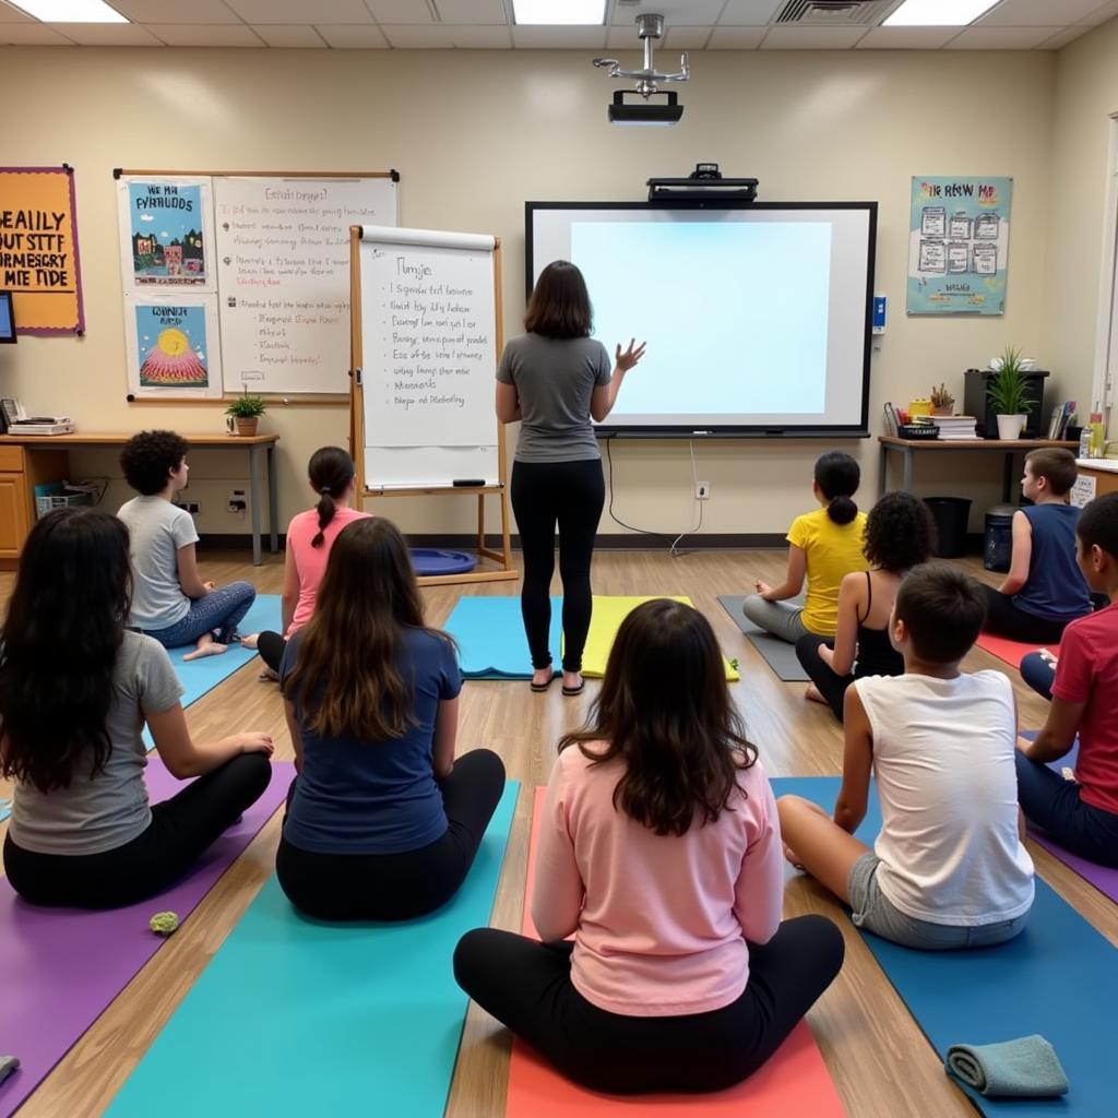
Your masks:
[{"label": "black leggings of the woman standing before the screen", "polygon": [[594,538],[606,501],[600,458],[577,462],[514,462],[512,511],[524,552],[520,608],[533,667],[551,663],[551,575],[556,566],[559,525],[559,577],[562,579],[563,671],[582,669],[582,648],[590,631],[590,560]]}]

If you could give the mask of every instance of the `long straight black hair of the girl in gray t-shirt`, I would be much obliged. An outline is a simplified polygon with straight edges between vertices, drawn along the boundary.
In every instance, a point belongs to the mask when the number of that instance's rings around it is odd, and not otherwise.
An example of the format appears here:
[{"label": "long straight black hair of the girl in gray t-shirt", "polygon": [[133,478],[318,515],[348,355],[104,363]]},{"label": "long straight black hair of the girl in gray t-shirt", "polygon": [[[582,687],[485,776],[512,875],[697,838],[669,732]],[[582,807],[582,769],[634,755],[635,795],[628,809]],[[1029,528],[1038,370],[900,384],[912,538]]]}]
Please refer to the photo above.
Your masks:
[{"label": "long straight black hair of the girl in gray t-shirt", "polygon": [[0,775],[49,793],[104,769],[131,593],[123,521],[80,508],[36,521],[0,629]]}]

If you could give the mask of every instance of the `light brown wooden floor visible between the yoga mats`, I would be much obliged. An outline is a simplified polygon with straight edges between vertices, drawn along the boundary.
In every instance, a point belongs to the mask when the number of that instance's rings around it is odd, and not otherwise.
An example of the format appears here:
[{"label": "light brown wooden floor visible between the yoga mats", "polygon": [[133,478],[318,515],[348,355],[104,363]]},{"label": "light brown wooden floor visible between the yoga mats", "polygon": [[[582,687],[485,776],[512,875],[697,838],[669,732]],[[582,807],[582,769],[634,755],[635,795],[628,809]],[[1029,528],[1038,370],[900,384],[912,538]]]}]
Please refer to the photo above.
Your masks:
[{"label": "light brown wooden floor visible between the yoga mats", "polygon": [[[985,581],[993,580],[977,560],[960,563]],[[777,582],[783,567],[784,553],[769,551],[698,552],[680,558],[663,552],[605,552],[596,557],[594,582],[598,594],[690,595],[712,622],[727,655],[740,661],[742,679],[731,684],[731,690],[769,775],[837,775],[842,736],[830,711],[806,702],[803,684],[781,683],[716,600],[719,594],[747,593],[758,577]],[[269,557],[264,567],[254,568],[247,555],[236,560],[222,556],[218,561],[203,560],[201,572],[203,578],[218,582],[248,578],[260,593],[277,594],[282,557]],[[3,598],[10,581],[10,576],[0,576]],[[518,584],[510,582],[432,588],[425,591],[428,619],[435,625],[442,623],[463,593],[517,591]],[[965,666],[1007,670],[980,650],[972,652]],[[1023,688],[1015,673],[1011,674],[1021,724],[1040,726],[1045,703]],[[581,719],[596,688],[597,683],[589,681],[586,693],[571,700],[561,698],[558,688],[542,695],[530,694],[525,682],[467,682],[462,693],[459,751],[489,746],[504,758],[509,776],[521,780],[525,788],[544,784],[557,738]],[[196,739],[264,730],[277,742],[277,758],[291,757],[278,691],[274,684],[257,680],[255,665],[241,669],[190,707],[187,718]],[[0,795],[8,794],[9,789],[0,787]],[[521,795],[494,909],[496,927],[520,926],[530,802],[530,796]],[[182,931],[159,951],[31,1096],[20,1118],[78,1118],[105,1108],[272,872],[278,827],[277,816]],[[4,825],[0,825],[0,837],[3,830]],[[1118,945],[1115,907],[1035,844],[1030,844],[1030,852],[1045,880]],[[787,916],[806,911],[830,915],[846,937],[845,966],[812,1011],[809,1021],[852,1118],[972,1116],[969,1103],[948,1082],[932,1050],[839,909],[804,880],[789,887],[785,907]],[[262,1021],[259,1034],[248,1043],[249,1050],[267,1045],[267,1030],[268,1023]],[[472,1005],[446,1110],[448,1118],[503,1114],[509,1044],[508,1033]],[[203,1071],[184,1068],[183,1073]],[[168,1090],[173,1091],[173,1084],[168,1084]],[[217,1101],[214,1114],[221,1114]]]}]

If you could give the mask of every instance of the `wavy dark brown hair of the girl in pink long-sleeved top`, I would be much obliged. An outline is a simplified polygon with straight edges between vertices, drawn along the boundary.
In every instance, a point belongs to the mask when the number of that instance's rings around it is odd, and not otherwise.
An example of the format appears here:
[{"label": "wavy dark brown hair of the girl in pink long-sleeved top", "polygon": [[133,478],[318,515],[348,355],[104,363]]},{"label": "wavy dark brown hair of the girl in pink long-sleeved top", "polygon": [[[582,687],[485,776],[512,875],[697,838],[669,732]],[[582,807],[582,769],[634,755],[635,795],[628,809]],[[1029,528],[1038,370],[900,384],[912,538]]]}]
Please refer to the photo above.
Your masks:
[{"label": "wavy dark brown hair of the girl in pink long-sleeved top", "polygon": [[[699,610],[670,598],[637,606],[617,631],[587,724],[565,735],[596,765],[619,757],[614,807],[657,835],[683,835],[728,808],[757,760]],[[589,742],[604,742],[588,749]]]}]

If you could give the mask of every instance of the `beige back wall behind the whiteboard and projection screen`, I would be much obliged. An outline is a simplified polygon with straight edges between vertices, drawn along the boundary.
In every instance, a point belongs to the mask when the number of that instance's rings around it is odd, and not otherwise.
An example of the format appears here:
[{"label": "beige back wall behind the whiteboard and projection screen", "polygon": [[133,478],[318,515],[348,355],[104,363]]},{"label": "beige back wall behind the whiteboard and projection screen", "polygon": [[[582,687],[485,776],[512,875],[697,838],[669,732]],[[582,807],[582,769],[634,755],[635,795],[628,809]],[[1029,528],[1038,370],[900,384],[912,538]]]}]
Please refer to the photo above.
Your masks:
[{"label": "beige back wall behind the whiteboard and projection screen", "polygon": [[[1090,40],[1080,54],[1091,59],[1095,85],[1101,85],[1102,58],[1118,56],[1118,23]],[[523,312],[525,199],[642,199],[650,176],[685,174],[700,160],[718,161],[726,174],[756,176],[767,200],[880,202],[877,287],[890,297],[890,318],[873,358],[874,430],[883,400],[927,395],[941,380],[958,389],[961,402],[961,370],[982,364],[1006,342],[1044,361],[1051,357],[1058,392],[1078,387],[1084,376],[1089,382],[1082,349],[1088,331],[1071,340],[1076,331],[1044,329],[1051,322],[1046,300],[1062,290],[1055,282],[1060,269],[1076,276],[1080,271],[1072,272],[1069,248],[1053,254],[1049,245],[1060,214],[1055,177],[1071,174],[1054,167],[1053,151],[1063,150],[1054,136],[1054,106],[1063,120],[1087,97],[1072,94],[1071,85],[1058,88],[1058,74],[1074,67],[1036,51],[701,53],[692,55],[694,76],[682,89],[683,123],[625,130],[606,123],[615,84],[590,66],[589,56],[0,49],[6,86],[25,93],[20,111],[6,121],[4,163],[66,161],[76,168],[88,323],[80,340],[23,338],[7,348],[0,354],[4,395],[21,396],[32,411],[69,411],[85,430],[157,424],[216,429],[222,423],[212,406],[125,402],[114,167],[395,167],[402,176],[401,224],[501,236],[504,321],[512,333]],[[1068,151],[1068,161],[1082,162],[1088,173],[1096,162],[1092,143],[1084,139]],[[906,319],[910,177],[951,173],[1014,178],[1004,318]],[[1090,214],[1078,217],[1077,235],[1090,241]],[[1093,285],[1093,263],[1088,273]],[[1088,301],[1079,310],[1086,322]],[[655,344],[654,323],[634,323],[633,332]],[[265,421],[282,436],[286,520],[305,506],[306,459],[316,446],[345,438],[347,414],[292,406],[273,408]],[[862,462],[869,502],[877,445],[844,445]],[[824,448],[817,442],[698,446],[698,474],[712,486],[702,531],[783,532],[790,514],[811,502],[811,466]],[[75,473],[95,472],[115,466],[110,457],[76,456]],[[245,530],[243,520],[224,511],[226,490],[240,475],[231,455],[196,459],[191,491],[202,502],[203,532]],[[998,499],[998,477],[994,459],[972,458],[961,465],[921,463],[918,484],[925,493],[974,496],[977,527],[982,509]],[[618,445],[614,489],[615,511],[636,528],[675,533],[694,524],[686,444]],[[110,500],[124,495],[114,486]],[[473,517],[473,502],[451,498],[373,508],[390,509],[416,532],[465,532]],[[624,531],[608,518],[601,530]]]}]

